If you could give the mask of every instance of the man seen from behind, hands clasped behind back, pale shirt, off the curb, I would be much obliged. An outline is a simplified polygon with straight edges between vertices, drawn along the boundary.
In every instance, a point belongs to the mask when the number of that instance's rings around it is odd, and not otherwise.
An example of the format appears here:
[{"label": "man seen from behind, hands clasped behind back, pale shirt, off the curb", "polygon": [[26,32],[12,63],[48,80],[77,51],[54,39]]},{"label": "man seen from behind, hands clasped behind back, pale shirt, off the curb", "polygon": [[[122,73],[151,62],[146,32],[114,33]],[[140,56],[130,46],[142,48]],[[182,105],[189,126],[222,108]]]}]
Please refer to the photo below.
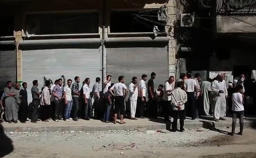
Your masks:
[{"label": "man seen from behind, hands clasped behind back, pale shirt, off the curb", "polygon": [[172,108],[173,108],[173,132],[177,130],[178,116],[180,118],[180,132],[184,132],[184,118],[185,118],[185,103],[187,102],[187,94],[181,89],[183,82],[177,82],[177,88],[172,90]]}]

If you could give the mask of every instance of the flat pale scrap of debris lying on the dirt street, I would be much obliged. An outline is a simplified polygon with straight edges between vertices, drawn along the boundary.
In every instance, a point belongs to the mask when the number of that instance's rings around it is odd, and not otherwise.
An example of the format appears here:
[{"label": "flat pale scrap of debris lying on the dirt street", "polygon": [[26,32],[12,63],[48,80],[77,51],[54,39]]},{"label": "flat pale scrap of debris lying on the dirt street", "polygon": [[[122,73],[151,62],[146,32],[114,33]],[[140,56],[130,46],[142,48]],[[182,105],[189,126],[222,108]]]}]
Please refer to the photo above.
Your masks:
[{"label": "flat pale scrap of debris lying on the dirt street", "polygon": [[135,143],[126,144],[126,143],[113,143],[108,145],[101,146],[92,146],[93,151],[101,151],[101,150],[129,150],[135,147]]}]

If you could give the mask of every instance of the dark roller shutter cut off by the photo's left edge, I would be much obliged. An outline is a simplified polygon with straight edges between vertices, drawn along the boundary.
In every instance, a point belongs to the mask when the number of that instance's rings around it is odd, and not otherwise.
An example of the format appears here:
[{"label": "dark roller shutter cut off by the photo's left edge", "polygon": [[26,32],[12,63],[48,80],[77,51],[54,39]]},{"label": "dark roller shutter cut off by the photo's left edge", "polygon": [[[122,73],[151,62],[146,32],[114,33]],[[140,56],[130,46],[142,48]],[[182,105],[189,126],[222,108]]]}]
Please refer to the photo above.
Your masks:
[{"label": "dark roller shutter cut off by the photo's left edge", "polygon": [[0,50],[0,90],[6,87],[7,81],[17,81],[16,50]]}]

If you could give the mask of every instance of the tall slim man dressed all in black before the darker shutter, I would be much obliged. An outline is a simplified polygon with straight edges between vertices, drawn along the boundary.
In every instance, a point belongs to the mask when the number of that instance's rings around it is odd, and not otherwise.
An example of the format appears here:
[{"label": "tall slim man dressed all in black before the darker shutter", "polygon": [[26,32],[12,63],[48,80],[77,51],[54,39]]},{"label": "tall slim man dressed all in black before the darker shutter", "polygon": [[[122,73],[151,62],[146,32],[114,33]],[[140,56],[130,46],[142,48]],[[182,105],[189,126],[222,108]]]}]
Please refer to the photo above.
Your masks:
[{"label": "tall slim man dressed all in black before the darker shutter", "polygon": [[157,104],[155,103],[155,95],[154,95],[154,79],[155,79],[155,72],[150,74],[150,79],[148,80],[148,104],[149,104],[149,116],[151,118],[157,117]]}]

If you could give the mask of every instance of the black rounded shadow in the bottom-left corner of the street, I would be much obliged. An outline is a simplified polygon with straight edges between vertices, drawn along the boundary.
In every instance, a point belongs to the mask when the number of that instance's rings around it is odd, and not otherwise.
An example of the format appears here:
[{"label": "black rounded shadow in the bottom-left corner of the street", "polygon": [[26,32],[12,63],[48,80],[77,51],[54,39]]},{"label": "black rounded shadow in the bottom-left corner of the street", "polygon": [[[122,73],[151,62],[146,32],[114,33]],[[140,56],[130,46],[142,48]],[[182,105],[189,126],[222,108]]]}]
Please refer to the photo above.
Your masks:
[{"label": "black rounded shadow in the bottom-left corner of the street", "polygon": [[0,157],[4,157],[10,154],[14,147],[12,145],[11,139],[4,133],[1,123],[2,122],[0,122]]}]

